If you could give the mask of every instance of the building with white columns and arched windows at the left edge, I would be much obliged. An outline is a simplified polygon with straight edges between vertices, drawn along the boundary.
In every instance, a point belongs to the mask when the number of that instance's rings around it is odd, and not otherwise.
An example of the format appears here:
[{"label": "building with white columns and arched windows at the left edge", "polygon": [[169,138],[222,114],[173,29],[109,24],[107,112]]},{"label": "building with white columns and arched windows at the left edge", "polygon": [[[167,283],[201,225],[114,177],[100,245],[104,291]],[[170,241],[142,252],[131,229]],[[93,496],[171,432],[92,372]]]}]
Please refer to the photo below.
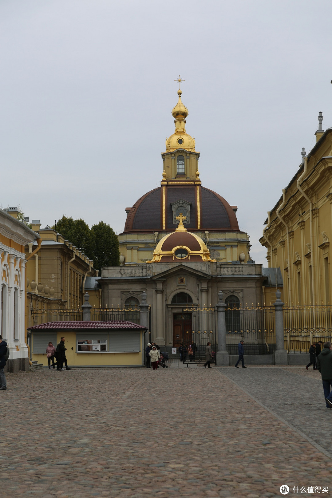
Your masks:
[{"label": "building with white columns and arched windows at the left edge", "polygon": [[[25,271],[24,247],[39,236],[17,219],[17,208],[0,209],[0,275],[1,336],[10,355],[7,370],[29,370],[29,355],[25,336]],[[37,246],[37,243],[36,243]]]}]

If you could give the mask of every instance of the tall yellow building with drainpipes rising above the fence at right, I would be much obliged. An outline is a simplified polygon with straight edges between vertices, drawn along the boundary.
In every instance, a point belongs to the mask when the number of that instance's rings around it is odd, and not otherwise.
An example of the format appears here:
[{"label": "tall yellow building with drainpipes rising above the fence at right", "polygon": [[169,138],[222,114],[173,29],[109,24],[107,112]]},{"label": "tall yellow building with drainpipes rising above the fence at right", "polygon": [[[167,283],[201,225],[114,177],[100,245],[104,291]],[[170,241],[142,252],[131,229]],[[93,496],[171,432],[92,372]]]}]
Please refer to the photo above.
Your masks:
[{"label": "tall yellow building with drainpipes rising above the fence at right", "polygon": [[[322,130],[282,196],[268,212],[260,243],[269,267],[280,267],[288,304],[328,304],[332,297],[332,129]],[[266,299],[267,301],[267,299]]]}]

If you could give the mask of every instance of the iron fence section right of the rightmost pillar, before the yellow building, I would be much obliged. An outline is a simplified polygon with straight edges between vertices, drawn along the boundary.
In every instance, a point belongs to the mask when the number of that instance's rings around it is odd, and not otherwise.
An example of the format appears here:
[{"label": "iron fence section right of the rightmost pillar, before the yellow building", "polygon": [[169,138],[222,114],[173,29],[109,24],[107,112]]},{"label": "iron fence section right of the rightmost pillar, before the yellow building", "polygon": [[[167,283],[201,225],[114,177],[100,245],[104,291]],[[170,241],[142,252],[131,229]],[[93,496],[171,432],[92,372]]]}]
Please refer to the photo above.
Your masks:
[{"label": "iron fence section right of the rightmost pillar, before the yellow building", "polygon": [[313,342],[332,341],[332,306],[284,306],[285,349],[308,353]]}]

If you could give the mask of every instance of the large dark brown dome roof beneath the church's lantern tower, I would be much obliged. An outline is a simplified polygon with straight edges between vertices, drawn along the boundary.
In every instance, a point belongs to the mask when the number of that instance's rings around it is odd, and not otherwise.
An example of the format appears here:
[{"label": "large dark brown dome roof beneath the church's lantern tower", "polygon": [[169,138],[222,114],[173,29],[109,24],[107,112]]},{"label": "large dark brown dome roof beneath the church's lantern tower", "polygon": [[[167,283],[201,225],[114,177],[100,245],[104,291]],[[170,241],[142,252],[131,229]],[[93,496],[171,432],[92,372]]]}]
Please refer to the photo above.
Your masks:
[{"label": "large dark brown dome roof beneath the church's lantern tower", "polygon": [[[165,188],[165,227],[162,226],[162,187],[158,187],[143,195],[130,209],[124,228],[124,233],[174,231],[172,203],[184,200],[190,204],[190,223],[188,230],[195,231],[239,231],[233,209],[227,201],[216,192],[205,187],[200,188],[200,205],[197,206],[197,191],[195,185],[167,185]],[[201,217],[198,229],[197,217]]]}]

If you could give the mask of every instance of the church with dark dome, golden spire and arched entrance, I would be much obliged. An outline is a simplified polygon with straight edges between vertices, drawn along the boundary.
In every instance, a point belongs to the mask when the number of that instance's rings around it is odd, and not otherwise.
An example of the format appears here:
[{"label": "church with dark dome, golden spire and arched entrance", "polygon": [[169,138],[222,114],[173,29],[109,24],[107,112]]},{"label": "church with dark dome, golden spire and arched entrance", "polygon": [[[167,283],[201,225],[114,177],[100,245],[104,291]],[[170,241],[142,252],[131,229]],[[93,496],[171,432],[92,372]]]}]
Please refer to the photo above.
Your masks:
[{"label": "church with dark dome, golden spire and arched entrance", "polygon": [[139,306],[146,292],[152,339],[167,348],[195,342],[191,309],[214,308],[220,290],[226,303],[258,305],[266,279],[238,228],[236,206],[202,186],[181,94],[172,110],[175,131],[161,154],[160,187],[126,208],[120,265],[104,267],[99,279],[104,308]]}]

